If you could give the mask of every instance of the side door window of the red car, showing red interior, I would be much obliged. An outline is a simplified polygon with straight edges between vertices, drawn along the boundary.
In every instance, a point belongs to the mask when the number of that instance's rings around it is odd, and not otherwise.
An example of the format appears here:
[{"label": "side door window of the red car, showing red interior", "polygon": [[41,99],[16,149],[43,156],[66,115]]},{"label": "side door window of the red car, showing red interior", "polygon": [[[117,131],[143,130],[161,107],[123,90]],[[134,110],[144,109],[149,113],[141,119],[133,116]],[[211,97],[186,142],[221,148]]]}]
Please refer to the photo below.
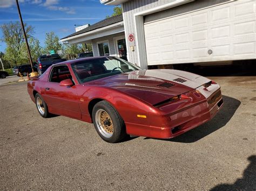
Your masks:
[{"label": "side door window of the red car, showing red interior", "polygon": [[56,66],[52,69],[51,75],[50,75],[50,82],[56,82],[59,83],[62,80],[71,79],[72,76],[69,72],[68,66]]}]

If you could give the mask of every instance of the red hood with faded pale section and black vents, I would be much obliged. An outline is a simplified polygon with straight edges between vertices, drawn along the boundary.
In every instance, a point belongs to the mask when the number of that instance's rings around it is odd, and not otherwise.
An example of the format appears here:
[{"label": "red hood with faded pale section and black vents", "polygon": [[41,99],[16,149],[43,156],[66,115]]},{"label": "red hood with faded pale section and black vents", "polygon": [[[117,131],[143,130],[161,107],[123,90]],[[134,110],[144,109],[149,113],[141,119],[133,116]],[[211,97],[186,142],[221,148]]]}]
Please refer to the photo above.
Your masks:
[{"label": "red hood with faded pale section and black vents", "polygon": [[136,70],[95,80],[90,84],[117,89],[149,104],[157,104],[211,80],[174,69]]}]

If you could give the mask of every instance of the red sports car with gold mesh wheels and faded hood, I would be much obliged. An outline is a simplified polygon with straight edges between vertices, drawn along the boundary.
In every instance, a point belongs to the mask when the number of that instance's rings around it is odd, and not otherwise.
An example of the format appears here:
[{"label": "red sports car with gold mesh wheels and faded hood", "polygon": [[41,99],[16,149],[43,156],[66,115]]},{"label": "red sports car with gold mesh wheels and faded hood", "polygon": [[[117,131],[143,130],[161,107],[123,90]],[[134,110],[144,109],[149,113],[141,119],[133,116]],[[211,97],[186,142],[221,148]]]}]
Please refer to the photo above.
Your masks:
[{"label": "red sports car with gold mesh wheels and faded hood", "polygon": [[102,56],[60,62],[28,83],[42,117],[93,123],[106,142],[127,135],[172,138],[207,122],[223,99],[219,84],[173,69],[141,69]]}]

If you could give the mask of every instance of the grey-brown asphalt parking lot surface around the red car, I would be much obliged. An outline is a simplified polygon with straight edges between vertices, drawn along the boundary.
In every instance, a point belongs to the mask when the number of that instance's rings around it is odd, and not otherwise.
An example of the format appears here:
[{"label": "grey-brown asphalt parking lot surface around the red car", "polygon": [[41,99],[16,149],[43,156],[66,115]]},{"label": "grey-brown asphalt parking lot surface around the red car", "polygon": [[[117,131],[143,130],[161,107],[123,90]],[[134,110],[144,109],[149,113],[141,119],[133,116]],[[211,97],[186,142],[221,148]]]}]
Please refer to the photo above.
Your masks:
[{"label": "grey-brown asphalt parking lot surface around the red car", "polygon": [[44,119],[26,82],[0,86],[0,189],[256,188],[256,77],[210,77],[224,107],[174,139],[109,144],[91,124]]}]

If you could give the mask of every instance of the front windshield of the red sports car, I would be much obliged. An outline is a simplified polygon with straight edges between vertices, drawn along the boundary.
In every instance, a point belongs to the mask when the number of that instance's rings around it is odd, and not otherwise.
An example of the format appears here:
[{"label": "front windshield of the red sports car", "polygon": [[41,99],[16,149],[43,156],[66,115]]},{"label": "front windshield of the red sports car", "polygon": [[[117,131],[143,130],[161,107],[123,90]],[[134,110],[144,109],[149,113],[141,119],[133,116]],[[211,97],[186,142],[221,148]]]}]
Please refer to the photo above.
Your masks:
[{"label": "front windshield of the red sports car", "polygon": [[79,83],[141,69],[116,57],[94,58],[73,63],[71,66]]}]

